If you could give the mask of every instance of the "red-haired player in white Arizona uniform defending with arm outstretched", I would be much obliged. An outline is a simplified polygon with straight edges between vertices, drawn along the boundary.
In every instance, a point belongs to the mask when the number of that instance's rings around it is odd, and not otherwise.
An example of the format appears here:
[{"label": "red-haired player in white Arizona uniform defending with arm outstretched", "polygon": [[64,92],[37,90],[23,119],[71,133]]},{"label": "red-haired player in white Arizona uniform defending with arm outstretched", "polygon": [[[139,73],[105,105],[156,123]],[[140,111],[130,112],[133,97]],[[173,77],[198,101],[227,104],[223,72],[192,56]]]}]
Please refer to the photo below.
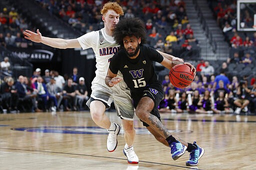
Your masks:
[{"label": "red-haired player in white Arizona uniform defending with arm outstretched", "polygon": [[[107,137],[107,150],[113,152],[117,146],[117,135],[120,127],[116,123],[111,123],[108,117],[104,114],[106,108],[110,107],[112,100],[118,116],[121,118],[122,127],[124,130],[124,155],[127,157],[129,164],[138,164],[138,157],[133,150],[133,142],[135,137],[135,130],[133,128],[134,109],[130,97],[129,89],[122,81],[109,88],[105,84],[105,76],[109,66],[110,58],[119,49],[119,45],[115,43],[112,37],[112,31],[119,21],[119,16],[123,15],[121,6],[116,2],[107,2],[101,9],[102,20],[104,21],[104,28],[98,31],[86,33],[76,39],[61,39],[50,38],[42,36],[39,30],[36,33],[25,30],[23,33],[26,39],[33,42],[43,43],[54,48],[79,48],[82,49],[92,48],[96,57],[96,76],[92,81],[92,93],[86,105],[90,108],[92,120],[101,128],[108,131]],[[164,57],[172,61],[182,61],[180,58],[161,53]],[[194,68],[194,67],[193,67]],[[194,69],[195,70],[195,69]],[[121,77],[120,73],[118,76]],[[165,139],[157,139],[163,141]]]}]

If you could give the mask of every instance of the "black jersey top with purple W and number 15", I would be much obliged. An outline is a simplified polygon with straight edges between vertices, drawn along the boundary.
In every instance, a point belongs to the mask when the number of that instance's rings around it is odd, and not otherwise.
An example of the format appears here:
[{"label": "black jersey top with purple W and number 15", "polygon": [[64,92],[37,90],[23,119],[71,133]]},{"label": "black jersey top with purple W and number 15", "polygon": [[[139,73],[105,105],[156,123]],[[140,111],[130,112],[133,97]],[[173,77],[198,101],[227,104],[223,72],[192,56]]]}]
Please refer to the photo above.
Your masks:
[{"label": "black jersey top with purple W and number 15", "polygon": [[156,87],[161,88],[152,61],[160,63],[163,56],[153,48],[144,45],[139,48],[139,55],[135,59],[130,59],[124,48],[120,49],[111,58],[109,65],[109,69],[114,74],[120,70],[124,82],[130,88],[132,98],[140,96],[147,85],[155,84]]}]

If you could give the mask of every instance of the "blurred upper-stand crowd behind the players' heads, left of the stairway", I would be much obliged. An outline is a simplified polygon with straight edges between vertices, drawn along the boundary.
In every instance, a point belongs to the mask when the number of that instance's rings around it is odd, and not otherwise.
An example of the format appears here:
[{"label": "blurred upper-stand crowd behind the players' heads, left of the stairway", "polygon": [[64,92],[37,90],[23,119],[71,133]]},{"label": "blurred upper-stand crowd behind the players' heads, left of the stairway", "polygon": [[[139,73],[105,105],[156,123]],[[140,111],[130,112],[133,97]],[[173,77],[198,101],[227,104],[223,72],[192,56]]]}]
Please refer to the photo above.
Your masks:
[{"label": "blurred upper-stand crowd behind the players' heads, left of the stairway", "polygon": [[[107,0],[38,0],[49,12],[70,26],[87,33],[103,27],[100,8]],[[120,0],[123,17],[140,17],[148,34],[147,44],[185,59],[198,58],[198,41],[193,37],[183,0]],[[173,32],[172,38],[169,34]]]}]

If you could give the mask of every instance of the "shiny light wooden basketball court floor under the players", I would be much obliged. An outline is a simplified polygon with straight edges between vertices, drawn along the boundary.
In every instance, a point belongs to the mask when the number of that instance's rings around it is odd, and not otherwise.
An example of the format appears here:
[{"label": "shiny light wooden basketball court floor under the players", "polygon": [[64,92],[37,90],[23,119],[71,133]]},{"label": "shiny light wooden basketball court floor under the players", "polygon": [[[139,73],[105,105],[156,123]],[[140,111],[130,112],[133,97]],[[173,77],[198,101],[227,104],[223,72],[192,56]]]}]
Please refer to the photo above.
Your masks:
[{"label": "shiny light wooden basketball court floor under the players", "polygon": [[[120,124],[115,112],[106,112]],[[127,164],[123,131],[112,153],[107,133],[88,111],[0,114],[0,170],[253,170],[256,116],[161,113],[163,124],[181,139],[204,148],[196,167],[186,152],[176,161],[135,118],[136,166]]]}]

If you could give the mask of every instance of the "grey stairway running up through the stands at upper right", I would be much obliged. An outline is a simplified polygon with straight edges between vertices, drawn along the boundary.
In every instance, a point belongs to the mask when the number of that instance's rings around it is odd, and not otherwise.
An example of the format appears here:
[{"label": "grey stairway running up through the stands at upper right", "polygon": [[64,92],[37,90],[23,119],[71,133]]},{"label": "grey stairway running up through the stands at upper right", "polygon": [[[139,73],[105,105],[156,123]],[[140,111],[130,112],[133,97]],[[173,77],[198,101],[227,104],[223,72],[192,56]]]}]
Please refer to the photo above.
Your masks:
[{"label": "grey stairway running up through the stands at upper right", "polygon": [[189,23],[198,39],[201,58],[204,60],[226,60],[229,49],[222,31],[208,7],[207,0],[184,0]]}]

